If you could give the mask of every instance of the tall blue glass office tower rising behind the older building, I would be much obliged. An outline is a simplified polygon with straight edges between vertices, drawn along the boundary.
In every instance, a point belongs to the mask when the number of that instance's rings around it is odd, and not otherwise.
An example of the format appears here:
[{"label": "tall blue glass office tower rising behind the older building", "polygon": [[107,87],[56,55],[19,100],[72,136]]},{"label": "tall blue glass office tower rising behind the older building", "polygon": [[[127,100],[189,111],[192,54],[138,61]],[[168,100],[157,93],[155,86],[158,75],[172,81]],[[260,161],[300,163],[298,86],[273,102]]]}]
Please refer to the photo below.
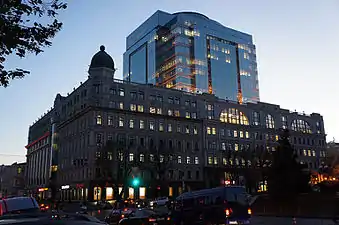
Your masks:
[{"label": "tall blue glass office tower rising behind the older building", "polygon": [[157,11],[126,40],[124,80],[258,102],[252,36],[195,12]]}]

